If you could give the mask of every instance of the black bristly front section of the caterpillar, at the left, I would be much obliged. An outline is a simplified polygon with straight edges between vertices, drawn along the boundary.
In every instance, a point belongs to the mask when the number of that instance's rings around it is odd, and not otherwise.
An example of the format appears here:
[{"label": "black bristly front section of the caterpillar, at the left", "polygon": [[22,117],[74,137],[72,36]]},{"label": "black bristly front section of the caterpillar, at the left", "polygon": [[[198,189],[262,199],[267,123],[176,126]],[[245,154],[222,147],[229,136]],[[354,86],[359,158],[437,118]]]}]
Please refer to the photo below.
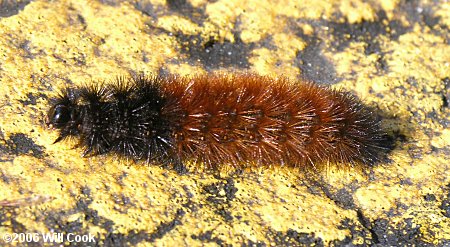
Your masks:
[{"label": "black bristly front section of the caterpillar, at the left", "polygon": [[70,109],[57,141],[79,136],[84,156],[114,152],[135,159],[168,156],[170,127],[161,118],[157,80],[118,78],[115,84],[67,88],[53,101],[49,124],[59,127],[55,109]]}]

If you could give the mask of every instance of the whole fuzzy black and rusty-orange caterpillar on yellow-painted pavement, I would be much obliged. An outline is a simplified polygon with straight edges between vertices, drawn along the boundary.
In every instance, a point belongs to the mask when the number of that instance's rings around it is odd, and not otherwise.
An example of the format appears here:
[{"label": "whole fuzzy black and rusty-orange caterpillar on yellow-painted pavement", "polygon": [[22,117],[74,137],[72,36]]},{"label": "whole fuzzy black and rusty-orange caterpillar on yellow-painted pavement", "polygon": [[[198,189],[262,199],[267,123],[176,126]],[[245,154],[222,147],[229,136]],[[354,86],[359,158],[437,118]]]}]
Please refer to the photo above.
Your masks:
[{"label": "whole fuzzy black and rusty-orange caterpillar on yellow-painted pavement", "polygon": [[65,88],[47,124],[84,155],[151,163],[371,165],[383,151],[375,114],[350,93],[255,74],[122,77]]}]

